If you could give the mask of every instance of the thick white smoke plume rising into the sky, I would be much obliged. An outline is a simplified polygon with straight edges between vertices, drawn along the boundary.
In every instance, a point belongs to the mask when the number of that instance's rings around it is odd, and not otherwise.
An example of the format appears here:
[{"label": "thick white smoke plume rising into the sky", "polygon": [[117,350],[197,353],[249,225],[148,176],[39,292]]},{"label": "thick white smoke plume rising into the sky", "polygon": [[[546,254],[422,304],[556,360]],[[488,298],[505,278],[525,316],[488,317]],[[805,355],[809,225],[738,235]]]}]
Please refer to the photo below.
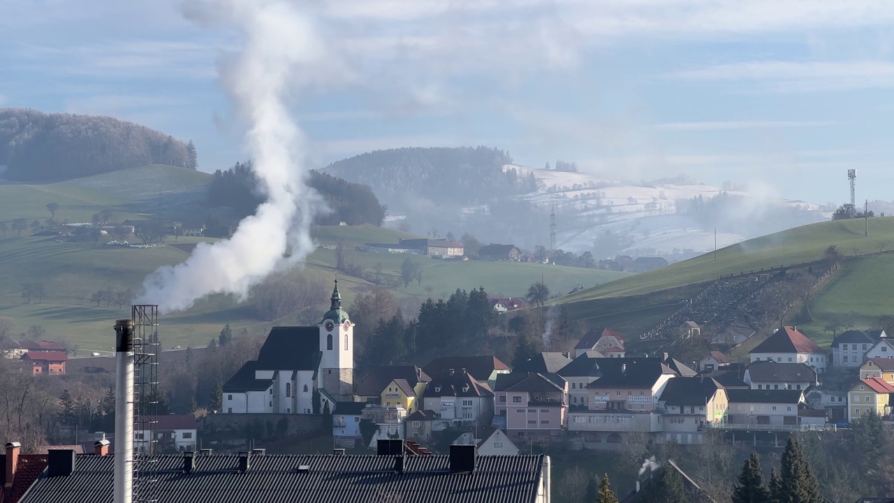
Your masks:
[{"label": "thick white smoke plume rising into the sky", "polygon": [[193,2],[185,12],[192,21],[235,29],[244,38],[240,51],[224,58],[221,83],[248,125],[246,147],[267,199],[230,239],[201,243],[185,262],[146,277],[138,302],[157,303],[162,311],[188,309],[209,294],[244,299],[252,286],[313,251],[310,224],[325,203],[304,182],[304,137],[287,98],[302,84],[325,84],[320,80],[337,66],[314,21],[284,1]]}]

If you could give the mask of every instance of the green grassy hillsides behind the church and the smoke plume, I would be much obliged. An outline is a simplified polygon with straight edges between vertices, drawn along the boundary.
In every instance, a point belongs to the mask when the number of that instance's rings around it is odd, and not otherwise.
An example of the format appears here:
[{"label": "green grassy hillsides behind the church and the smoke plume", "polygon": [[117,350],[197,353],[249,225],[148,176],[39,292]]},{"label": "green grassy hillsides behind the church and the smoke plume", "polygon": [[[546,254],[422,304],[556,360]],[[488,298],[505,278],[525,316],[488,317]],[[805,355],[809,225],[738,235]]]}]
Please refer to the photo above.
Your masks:
[{"label": "green grassy hillsides behind the church and the smoke plume", "polygon": [[[102,175],[43,184],[0,184],[0,221],[26,218],[41,222],[50,217],[46,203],[59,205],[55,219],[59,222],[89,222],[103,209],[112,209],[115,220],[145,218],[161,208],[166,217],[188,218],[204,215],[196,212],[204,200],[204,188],[210,175],[172,166],[143,166]],[[161,194],[161,196],[159,196]],[[109,351],[112,345],[114,320],[127,316],[128,306],[114,303],[97,306],[90,294],[111,287],[113,290],[136,290],[152,270],[162,265],[177,264],[189,256],[173,246],[150,249],[128,249],[105,246],[108,236],[93,243],[66,243],[55,237],[32,236],[30,230],[0,235],[0,315],[16,322],[16,334],[31,325],[46,328],[46,337],[67,338],[83,352]],[[401,237],[417,237],[375,226],[319,226],[313,231],[321,244],[342,243],[349,262],[371,271],[381,265],[381,275],[398,277],[403,255],[357,252],[354,247],[368,242],[396,242]],[[210,241],[204,238],[180,237],[177,244]],[[168,244],[173,244],[168,239]],[[413,256],[423,269],[421,285],[399,286],[395,294],[409,299],[408,305],[421,302],[429,294],[445,296],[456,288],[484,286],[493,295],[524,295],[531,283],[541,277],[553,292],[568,292],[575,286],[593,286],[627,276],[625,273],[593,269],[571,269],[507,262],[443,261]],[[301,274],[335,276],[335,252],[319,249],[308,258],[308,267]],[[342,291],[346,305],[354,296],[372,284],[358,277],[344,277]],[[31,303],[21,297],[22,286],[41,283],[46,296]],[[274,322],[257,320],[250,301],[236,303],[231,297],[214,295],[197,303],[189,311],[173,313],[161,320],[164,345],[203,345],[230,323],[237,331],[242,327],[260,332],[274,324],[295,323],[289,315]]]}]

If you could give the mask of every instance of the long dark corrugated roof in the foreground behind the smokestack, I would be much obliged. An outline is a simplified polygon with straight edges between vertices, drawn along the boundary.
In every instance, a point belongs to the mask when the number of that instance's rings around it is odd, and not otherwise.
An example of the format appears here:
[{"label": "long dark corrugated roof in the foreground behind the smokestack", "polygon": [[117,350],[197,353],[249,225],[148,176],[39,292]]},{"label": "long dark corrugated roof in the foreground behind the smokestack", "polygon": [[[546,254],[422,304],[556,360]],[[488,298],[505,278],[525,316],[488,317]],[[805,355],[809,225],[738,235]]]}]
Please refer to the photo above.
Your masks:
[{"label": "long dark corrugated roof in the foreground behind the smokestack", "polygon": [[[414,503],[534,501],[544,456],[478,456],[474,473],[451,474],[449,456],[197,456],[183,473],[182,456],[157,461],[152,496],[165,503],[342,503],[400,500]],[[71,475],[38,478],[21,503],[112,503],[114,456],[77,456]],[[299,466],[308,466],[307,473]]]}]

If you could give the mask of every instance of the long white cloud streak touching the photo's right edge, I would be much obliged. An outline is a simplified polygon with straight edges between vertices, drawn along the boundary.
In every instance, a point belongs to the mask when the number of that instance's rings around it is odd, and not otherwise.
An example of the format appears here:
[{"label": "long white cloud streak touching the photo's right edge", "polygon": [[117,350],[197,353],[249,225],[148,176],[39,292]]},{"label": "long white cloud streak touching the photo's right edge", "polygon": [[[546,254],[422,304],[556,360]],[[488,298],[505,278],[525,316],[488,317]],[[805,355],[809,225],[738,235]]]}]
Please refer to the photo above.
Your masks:
[{"label": "long white cloud streak touching the photo's right edge", "polygon": [[750,61],[715,64],[664,74],[676,81],[752,82],[775,92],[886,89],[894,87],[894,63],[882,61]]}]

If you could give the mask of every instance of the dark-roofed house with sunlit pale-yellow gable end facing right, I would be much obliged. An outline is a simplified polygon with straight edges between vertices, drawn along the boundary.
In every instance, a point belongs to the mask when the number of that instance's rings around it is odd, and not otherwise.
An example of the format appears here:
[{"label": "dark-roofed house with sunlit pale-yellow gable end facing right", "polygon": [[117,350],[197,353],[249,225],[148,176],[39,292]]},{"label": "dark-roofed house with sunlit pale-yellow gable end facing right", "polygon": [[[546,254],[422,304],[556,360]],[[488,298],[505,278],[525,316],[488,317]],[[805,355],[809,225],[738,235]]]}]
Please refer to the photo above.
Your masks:
[{"label": "dark-roofed house with sunlit pale-yellow gable end facing right", "polygon": [[723,422],[730,406],[727,391],[714,379],[679,377],[668,381],[658,398],[664,439],[698,444],[706,425]]}]

